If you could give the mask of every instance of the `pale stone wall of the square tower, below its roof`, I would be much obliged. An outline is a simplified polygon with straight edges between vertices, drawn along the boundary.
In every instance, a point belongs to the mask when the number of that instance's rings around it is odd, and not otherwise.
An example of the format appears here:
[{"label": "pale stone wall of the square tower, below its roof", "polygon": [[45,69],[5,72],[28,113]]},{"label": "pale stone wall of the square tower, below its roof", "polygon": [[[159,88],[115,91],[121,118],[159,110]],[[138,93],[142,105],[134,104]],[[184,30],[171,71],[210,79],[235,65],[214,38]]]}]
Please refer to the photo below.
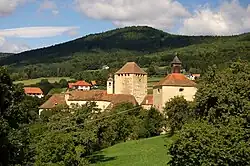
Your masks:
[{"label": "pale stone wall of the square tower, below its roof", "polygon": [[131,94],[140,104],[147,95],[147,75],[115,74],[115,94]]}]

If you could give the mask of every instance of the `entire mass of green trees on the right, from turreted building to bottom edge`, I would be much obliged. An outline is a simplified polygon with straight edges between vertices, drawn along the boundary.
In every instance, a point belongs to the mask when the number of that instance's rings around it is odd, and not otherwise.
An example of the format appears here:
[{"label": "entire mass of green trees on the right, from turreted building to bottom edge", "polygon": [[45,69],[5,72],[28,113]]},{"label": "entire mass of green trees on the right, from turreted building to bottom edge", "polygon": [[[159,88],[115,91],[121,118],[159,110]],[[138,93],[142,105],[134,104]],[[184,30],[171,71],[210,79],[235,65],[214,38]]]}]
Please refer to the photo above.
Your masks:
[{"label": "entire mass of green trees on the right, from turreted building to bottom edge", "polygon": [[206,72],[198,81],[197,120],[180,130],[170,165],[250,165],[249,80],[247,62]]}]

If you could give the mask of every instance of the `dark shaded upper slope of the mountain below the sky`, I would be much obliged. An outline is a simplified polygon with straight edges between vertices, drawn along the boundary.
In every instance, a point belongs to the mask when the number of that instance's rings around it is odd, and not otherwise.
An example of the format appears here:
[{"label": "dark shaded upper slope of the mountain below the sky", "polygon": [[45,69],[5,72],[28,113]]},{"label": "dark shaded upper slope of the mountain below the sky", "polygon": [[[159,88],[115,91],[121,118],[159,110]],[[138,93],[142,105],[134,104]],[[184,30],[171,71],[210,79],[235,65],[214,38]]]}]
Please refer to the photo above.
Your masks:
[{"label": "dark shaded upper slope of the mountain below the sky", "polygon": [[171,35],[150,27],[126,27],[85,37],[46,48],[26,51],[0,61],[1,65],[13,63],[41,63],[46,58],[53,61],[69,57],[76,52],[92,52],[100,49],[156,52],[162,48],[180,48],[192,44],[208,42],[213,37],[189,37]]}]

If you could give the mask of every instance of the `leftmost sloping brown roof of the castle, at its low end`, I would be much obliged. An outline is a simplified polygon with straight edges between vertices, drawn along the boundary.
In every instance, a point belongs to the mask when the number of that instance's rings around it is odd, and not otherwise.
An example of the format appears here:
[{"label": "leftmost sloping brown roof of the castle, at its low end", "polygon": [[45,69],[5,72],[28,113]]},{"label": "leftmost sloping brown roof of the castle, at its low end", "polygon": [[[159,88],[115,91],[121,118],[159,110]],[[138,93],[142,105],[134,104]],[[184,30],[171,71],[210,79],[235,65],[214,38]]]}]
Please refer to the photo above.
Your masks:
[{"label": "leftmost sloping brown roof of the castle, at its low end", "polygon": [[43,105],[40,106],[41,109],[52,109],[56,106],[67,106],[64,94],[54,94],[51,96]]}]

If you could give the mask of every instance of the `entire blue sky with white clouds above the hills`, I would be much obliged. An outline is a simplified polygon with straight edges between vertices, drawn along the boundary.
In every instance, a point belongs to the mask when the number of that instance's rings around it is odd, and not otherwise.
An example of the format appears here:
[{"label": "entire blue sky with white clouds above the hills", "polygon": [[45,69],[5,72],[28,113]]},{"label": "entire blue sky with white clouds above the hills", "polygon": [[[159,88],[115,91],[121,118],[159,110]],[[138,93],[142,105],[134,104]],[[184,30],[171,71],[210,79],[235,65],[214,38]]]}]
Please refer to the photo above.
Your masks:
[{"label": "entire blue sky with white clouds above the hills", "polygon": [[250,0],[0,0],[0,52],[133,25],[182,35],[241,34],[250,32]]}]

